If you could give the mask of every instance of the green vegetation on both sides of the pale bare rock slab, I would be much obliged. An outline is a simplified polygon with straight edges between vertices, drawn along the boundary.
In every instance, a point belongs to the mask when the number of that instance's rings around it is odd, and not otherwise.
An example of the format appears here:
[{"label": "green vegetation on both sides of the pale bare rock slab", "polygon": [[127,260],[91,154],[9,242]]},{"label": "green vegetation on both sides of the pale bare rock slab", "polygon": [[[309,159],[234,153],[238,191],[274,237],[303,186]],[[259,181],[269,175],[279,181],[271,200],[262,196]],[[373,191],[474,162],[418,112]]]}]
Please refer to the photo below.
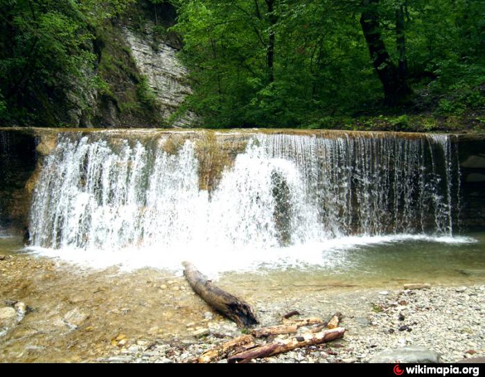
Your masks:
[{"label": "green vegetation on both sides of the pale bare rock slab", "polygon": [[[116,22],[148,3],[157,24],[167,2],[0,0],[0,124],[70,125],[94,90],[160,125]],[[169,2],[160,35],[182,38],[193,86],[179,113],[204,127],[484,128],[483,0]]]}]

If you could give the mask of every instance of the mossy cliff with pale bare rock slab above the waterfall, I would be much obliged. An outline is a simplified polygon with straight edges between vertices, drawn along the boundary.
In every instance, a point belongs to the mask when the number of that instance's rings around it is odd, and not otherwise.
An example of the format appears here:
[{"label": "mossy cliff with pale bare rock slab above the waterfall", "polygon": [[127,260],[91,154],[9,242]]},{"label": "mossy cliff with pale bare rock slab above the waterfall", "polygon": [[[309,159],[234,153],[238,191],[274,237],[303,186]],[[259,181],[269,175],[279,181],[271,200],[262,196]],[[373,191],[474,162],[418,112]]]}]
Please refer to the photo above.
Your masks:
[{"label": "mossy cliff with pale bare rock slab above the waterfall", "polygon": [[[155,8],[154,8],[155,7]],[[121,19],[96,28],[97,56],[85,79],[73,78],[46,106],[45,125],[64,127],[191,127],[197,120],[181,106],[191,93],[179,61],[179,37],[169,32],[176,11],[170,3],[137,1]]]}]

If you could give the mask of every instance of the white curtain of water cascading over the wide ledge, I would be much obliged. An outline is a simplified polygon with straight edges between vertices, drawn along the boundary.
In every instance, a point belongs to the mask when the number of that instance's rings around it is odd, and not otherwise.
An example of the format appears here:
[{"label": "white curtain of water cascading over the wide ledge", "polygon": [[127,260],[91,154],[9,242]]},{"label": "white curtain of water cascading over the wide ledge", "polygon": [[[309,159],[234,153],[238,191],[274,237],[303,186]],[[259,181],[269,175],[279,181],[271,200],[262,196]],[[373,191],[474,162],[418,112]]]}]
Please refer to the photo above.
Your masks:
[{"label": "white curtain of water cascading over the wide ledge", "polygon": [[198,140],[168,153],[165,134],[61,135],[33,196],[30,245],[98,266],[190,259],[230,270],[321,264],[324,250],[452,235],[459,165],[449,136],[241,137],[245,151],[209,193],[200,190]]}]

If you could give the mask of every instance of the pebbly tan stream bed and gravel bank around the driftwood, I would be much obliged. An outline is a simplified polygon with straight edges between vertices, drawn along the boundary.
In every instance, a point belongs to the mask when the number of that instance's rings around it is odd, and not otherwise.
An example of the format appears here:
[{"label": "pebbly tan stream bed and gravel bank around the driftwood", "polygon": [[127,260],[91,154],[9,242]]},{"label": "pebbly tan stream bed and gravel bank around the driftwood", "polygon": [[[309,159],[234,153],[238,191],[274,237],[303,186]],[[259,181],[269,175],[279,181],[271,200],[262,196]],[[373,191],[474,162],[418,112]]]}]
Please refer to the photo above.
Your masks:
[{"label": "pebbly tan stream bed and gravel bank around the driftwood", "polygon": [[[0,273],[0,306],[27,308],[0,338],[4,362],[184,362],[241,335],[183,277],[160,270],[82,270],[12,254],[0,261]],[[343,339],[259,362],[367,362],[409,346],[432,349],[443,362],[485,356],[484,277],[404,291],[403,279],[346,284],[299,275],[239,274],[218,282],[254,306],[261,326],[279,324],[290,310],[323,319],[343,313]]]}]

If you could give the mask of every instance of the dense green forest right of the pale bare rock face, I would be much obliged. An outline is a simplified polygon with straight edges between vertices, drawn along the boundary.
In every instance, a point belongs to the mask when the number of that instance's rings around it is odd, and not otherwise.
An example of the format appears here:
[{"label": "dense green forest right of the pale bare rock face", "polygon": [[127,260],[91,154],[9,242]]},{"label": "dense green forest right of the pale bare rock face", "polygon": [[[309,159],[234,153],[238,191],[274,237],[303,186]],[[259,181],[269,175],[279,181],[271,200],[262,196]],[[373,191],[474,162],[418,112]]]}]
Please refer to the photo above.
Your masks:
[{"label": "dense green forest right of the pale bare rock face", "polygon": [[380,115],[371,122],[405,128],[416,114],[428,129],[440,117],[485,122],[482,0],[178,6],[188,107],[206,126],[339,127]]}]

